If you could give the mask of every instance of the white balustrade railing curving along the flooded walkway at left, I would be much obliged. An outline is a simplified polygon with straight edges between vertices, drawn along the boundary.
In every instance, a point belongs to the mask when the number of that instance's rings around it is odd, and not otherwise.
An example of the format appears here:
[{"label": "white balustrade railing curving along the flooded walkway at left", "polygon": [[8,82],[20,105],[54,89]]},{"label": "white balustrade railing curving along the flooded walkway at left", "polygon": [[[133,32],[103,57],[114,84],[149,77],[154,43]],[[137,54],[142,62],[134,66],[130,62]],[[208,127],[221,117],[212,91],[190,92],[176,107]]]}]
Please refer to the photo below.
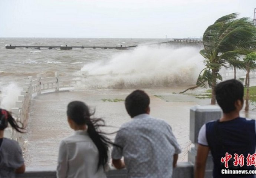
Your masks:
[{"label": "white balustrade railing curving along the flooded walkway at left", "polygon": [[[54,77],[48,78],[42,78],[41,74],[37,74],[36,78],[29,76],[15,103],[15,107],[12,108],[12,116],[17,122],[26,126],[32,97],[42,93],[58,92],[60,89],[71,88],[79,82],[81,82],[81,76],[59,76],[58,72],[55,72]],[[4,135],[16,141],[20,139],[19,132],[11,127],[4,130]]]}]

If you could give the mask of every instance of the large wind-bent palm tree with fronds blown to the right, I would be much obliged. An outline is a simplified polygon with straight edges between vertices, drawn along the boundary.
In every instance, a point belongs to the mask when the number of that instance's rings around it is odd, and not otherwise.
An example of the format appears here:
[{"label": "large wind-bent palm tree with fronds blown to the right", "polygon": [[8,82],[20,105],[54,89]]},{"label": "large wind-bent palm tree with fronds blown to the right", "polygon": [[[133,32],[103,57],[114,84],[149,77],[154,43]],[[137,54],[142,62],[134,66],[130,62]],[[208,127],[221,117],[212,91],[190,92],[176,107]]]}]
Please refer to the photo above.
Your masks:
[{"label": "large wind-bent palm tree with fronds blown to the right", "polygon": [[256,47],[256,27],[249,18],[237,19],[237,15],[232,13],[220,17],[203,35],[204,49],[200,50],[200,54],[205,58],[206,67],[200,72],[196,85],[212,88],[211,104],[216,103],[216,82],[222,80],[220,68],[245,68],[239,56],[248,54],[252,47]]}]

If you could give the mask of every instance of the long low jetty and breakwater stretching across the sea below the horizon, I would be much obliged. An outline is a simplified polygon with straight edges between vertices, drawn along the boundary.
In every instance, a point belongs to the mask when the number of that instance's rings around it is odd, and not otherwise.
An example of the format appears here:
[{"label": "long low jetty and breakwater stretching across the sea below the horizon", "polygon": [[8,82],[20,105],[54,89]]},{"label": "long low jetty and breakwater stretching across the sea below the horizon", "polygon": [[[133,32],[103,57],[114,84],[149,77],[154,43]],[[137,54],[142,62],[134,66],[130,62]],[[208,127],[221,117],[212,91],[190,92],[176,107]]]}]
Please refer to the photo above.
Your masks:
[{"label": "long low jetty and breakwater stretching across the sea below the horizon", "polygon": [[[174,38],[173,40],[167,41],[167,42],[159,42],[159,43],[151,43],[151,44],[144,44],[144,45],[153,45],[153,44],[158,44],[161,45],[163,43],[188,43],[188,44],[202,44],[202,40],[201,39],[191,39],[191,38]],[[141,44],[143,45],[143,44]],[[125,50],[125,49],[129,49],[129,48],[133,48],[133,47],[137,47],[138,45],[134,45],[134,46],[68,46],[66,45],[62,45],[62,46],[12,46],[12,44],[6,44],[5,48],[6,49],[16,49],[16,48],[34,48],[34,49],[41,49],[41,48],[48,48],[48,49],[53,49],[53,48],[59,48],[61,50],[71,50],[73,48],[92,48],[92,49],[121,49],[121,50]]]}]

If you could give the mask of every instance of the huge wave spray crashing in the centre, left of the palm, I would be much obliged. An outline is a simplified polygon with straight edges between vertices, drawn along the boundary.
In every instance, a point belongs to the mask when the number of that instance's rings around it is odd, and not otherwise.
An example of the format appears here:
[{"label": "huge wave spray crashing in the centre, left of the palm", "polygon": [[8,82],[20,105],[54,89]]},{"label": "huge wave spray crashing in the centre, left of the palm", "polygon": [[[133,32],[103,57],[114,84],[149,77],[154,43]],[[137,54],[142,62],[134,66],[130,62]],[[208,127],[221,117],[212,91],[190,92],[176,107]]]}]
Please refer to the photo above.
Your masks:
[{"label": "huge wave spray crashing in the centre, left of the palm", "polygon": [[140,46],[102,60],[86,64],[81,72],[86,88],[139,88],[193,85],[203,57],[194,47]]}]

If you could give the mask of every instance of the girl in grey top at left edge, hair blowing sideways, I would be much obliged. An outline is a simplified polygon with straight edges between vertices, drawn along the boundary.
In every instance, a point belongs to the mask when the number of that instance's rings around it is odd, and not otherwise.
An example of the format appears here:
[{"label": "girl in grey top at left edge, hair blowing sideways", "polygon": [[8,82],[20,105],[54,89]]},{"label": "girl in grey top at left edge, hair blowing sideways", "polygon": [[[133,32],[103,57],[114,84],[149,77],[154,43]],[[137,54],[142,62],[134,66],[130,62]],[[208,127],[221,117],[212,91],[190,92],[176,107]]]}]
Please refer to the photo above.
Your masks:
[{"label": "girl in grey top at left edge, hair blowing sideways", "polygon": [[17,132],[24,133],[23,126],[19,126],[12,115],[0,108],[0,178],[15,178],[15,174],[25,171],[24,159],[19,143],[4,138],[4,129],[8,123]]}]

